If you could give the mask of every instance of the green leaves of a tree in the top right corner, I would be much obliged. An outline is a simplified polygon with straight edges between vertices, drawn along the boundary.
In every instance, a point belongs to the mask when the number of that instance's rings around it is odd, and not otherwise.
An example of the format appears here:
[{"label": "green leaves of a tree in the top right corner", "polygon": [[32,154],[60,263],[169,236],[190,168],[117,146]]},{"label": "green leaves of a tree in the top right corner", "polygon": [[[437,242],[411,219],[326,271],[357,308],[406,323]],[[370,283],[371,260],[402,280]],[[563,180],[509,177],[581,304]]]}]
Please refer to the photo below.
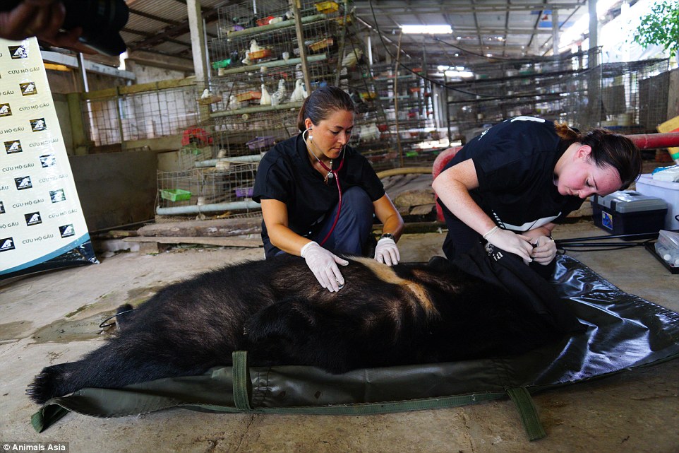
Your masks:
[{"label": "green leaves of a tree in the top right corner", "polygon": [[633,40],[644,48],[661,45],[674,57],[679,51],[679,0],[654,4],[651,13],[642,17]]}]

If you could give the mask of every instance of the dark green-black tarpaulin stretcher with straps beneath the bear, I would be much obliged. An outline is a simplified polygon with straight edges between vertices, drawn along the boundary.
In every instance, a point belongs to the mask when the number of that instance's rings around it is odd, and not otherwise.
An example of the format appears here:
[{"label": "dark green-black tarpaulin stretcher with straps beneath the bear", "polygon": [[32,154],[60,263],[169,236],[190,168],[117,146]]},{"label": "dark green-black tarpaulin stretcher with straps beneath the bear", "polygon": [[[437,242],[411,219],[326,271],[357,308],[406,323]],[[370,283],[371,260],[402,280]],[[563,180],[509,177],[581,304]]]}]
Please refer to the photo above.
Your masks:
[{"label": "dark green-black tarpaulin stretcher with straps beneath the bear", "polygon": [[[332,375],[315,367],[233,367],[205,375],[82,389],[54,398],[32,418],[42,431],[68,411],[117,417],[184,407],[200,411],[385,413],[459,406],[509,395],[529,437],[544,433],[529,392],[589,380],[679,357],[679,314],[624,293],[579,261],[558,257],[553,285],[587,329],[524,355],[354,370]],[[531,433],[530,424],[533,424]]]}]

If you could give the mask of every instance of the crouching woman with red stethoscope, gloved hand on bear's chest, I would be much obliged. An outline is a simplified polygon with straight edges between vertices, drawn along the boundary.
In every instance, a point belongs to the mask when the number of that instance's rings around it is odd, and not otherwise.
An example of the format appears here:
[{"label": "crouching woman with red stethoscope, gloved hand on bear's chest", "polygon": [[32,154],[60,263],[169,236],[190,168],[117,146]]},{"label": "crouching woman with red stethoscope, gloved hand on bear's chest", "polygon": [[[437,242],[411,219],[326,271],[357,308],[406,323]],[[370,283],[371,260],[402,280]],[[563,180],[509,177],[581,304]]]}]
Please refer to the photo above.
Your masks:
[{"label": "crouching woman with red stethoscope, gloved hand on bear's chest", "polygon": [[340,290],[337,264],[348,262],[330,249],[363,254],[374,213],[383,223],[375,259],[397,264],[403,219],[368,160],[347,146],[354,128],[349,95],[318,88],[304,100],[297,126],[300,134],[271,148],[257,170],[253,200],[262,204],[266,257],[304,257],[323,288]]}]

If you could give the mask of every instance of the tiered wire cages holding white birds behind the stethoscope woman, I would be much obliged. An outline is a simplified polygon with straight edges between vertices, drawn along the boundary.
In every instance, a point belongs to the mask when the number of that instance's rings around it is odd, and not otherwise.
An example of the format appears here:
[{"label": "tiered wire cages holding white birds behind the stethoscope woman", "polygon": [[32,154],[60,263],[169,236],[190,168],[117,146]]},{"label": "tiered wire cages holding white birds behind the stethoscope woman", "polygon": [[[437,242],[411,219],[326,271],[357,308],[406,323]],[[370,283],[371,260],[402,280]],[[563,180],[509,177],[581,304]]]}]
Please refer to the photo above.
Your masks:
[{"label": "tiered wire cages holding white birds behind the stethoscope woman", "polygon": [[337,72],[344,23],[340,4],[305,0],[298,14],[295,18],[288,0],[219,8],[219,34],[208,45],[209,93],[203,100],[209,120],[200,124],[210,135],[210,155],[185,171],[158,177],[166,191],[198,194],[181,201],[182,207],[226,203],[236,216],[243,209],[259,211],[250,197],[260,156],[299,132],[297,112],[307,88],[332,83]]}]

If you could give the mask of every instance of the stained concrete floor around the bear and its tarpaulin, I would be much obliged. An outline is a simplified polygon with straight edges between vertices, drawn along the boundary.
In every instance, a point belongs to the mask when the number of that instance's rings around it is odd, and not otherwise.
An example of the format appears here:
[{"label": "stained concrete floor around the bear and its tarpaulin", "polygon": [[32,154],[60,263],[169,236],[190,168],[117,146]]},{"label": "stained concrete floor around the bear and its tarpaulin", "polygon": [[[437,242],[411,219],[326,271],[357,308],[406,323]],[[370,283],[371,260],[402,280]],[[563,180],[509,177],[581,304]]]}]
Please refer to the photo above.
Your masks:
[{"label": "stained concrete floor around the bear and its tarpaulin", "polygon": [[[591,223],[556,237],[602,235]],[[442,254],[443,235],[406,235],[405,261]],[[615,286],[679,312],[679,275],[642,247],[571,252]],[[262,249],[172,249],[116,254],[0,286],[0,442],[63,441],[71,452],[679,452],[679,360],[536,394],[546,439],[528,442],[509,400],[376,416],[213,414],[172,409],[97,419],[69,414],[42,434],[24,395],[49,364],[76,360],[102,338],[102,314],[164,284]],[[2,283],[0,283],[2,284]]]}]

